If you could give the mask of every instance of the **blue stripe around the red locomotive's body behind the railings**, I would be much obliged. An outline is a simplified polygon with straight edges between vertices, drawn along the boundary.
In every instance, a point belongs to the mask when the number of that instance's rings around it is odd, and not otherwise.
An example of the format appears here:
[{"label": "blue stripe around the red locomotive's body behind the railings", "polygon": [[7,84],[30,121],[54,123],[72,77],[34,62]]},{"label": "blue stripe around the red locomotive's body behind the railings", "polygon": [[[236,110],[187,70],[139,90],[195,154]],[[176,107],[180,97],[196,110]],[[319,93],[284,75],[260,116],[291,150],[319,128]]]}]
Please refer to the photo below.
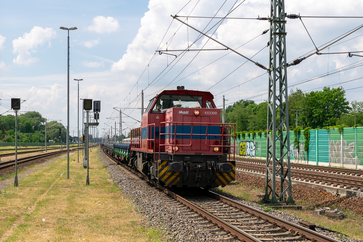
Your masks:
[{"label": "blue stripe around the red locomotive's body behind the railings", "polygon": [[[149,134],[151,137],[147,137],[147,128],[149,128]],[[162,133],[164,134],[174,134],[175,132],[175,125],[161,127]],[[155,127],[155,131],[159,132],[159,127]],[[176,133],[178,134],[190,134],[192,131],[191,125],[177,125],[176,126]],[[205,134],[207,132],[207,126],[200,126],[195,125],[193,126],[193,134]],[[220,139],[220,126],[209,126],[207,139]],[[143,127],[142,128],[142,139],[154,139],[154,127]],[[170,139],[174,139],[174,135],[162,135],[161,139],[167,139],[170,136]],[[180,137],[181,136],[181,137]],[[205,135],[193,135],[193,139],[205,139]],[[155,139],[159,139],[159,135],[156,135]],[[179,135],[178,139],[190,139],[190,135]]]}]

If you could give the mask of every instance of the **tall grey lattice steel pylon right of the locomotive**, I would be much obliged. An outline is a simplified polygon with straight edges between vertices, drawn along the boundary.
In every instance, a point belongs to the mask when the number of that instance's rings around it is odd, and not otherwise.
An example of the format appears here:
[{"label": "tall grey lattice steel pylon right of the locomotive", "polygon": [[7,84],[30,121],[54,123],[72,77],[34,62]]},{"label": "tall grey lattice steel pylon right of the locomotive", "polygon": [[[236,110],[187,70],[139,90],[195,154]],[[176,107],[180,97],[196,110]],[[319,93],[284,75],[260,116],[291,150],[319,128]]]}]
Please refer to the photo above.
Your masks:
[{"label": "tall grey lattice steel pylon right of the locomotive", "polygon": [[[284,0],[270,0],[269,95],[267,110],[266,191],[263,201],[292,205],[289,111],[287,103],[286,32]],[[278,114],[278,118],[276,116]],[[284,132],[287,131],[284,137]],[[271,132],[271,133],[270,133]],[[284,172],[284,160],[287,161]],[[269,167],[272,166],[272,168]],[[278,167],[279,166],[279,167]],[[280,192],[276,193],[276,178]],[[272,183],[270,185],[270,182]],[[289,192],[289,194],[287,194]],[[286,198],[287,197],[287,198]]]}]

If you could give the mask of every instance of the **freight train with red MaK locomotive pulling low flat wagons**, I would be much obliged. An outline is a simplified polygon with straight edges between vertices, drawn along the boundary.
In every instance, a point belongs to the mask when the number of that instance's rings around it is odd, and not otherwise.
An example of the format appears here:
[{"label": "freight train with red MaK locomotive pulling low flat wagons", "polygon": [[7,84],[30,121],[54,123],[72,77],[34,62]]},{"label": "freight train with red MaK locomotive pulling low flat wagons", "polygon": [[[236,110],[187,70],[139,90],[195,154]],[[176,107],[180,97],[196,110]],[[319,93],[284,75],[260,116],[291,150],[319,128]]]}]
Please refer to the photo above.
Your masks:
[{"label": "freight train with red MaK locomotive pulling low flat wagons", "polygon": [[223,187],[235,179],[230,131],[236,124],[220,119],[211,93],[178,86],[150,100],[130,143],[101,148],[169,188]]}]

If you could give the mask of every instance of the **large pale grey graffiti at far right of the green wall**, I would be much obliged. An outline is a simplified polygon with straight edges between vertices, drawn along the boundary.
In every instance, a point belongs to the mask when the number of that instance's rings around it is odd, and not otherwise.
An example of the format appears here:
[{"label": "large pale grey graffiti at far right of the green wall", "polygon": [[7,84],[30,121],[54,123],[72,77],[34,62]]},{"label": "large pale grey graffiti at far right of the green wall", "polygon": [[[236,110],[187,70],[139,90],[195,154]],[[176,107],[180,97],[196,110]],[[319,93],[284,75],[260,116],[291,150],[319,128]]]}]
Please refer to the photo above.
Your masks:
[{"label": "large pale grey graffiti at far right of the green wall", "polygon": [[[342,163],[342,141],[330,140],[329,159],[332,163]],[[355,141],[348,144],[346,140],[343,140],[343,163],[355,164]]]}]

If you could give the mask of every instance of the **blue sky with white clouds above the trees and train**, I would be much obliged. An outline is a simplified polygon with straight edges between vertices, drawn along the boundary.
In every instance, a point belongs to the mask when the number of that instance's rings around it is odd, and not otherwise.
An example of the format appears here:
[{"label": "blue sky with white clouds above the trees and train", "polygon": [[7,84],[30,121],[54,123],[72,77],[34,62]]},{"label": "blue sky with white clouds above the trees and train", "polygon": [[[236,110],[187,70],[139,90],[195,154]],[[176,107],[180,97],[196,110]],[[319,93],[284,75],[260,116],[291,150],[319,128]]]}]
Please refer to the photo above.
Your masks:
[{"label": "blue sky with white clouds above the trees and train", "polygon": [[[50,120],[67,122],[67,31],[70,30],[70,134],[77,130],[79,98],[101,101],[99,133],[117,123],[122,130],[139,126],[141,90],[144,106],[162,90],[210,91],[220,107],[223,95],[232,104],[240,99],[266,100],[265,70],[230,50],[168,52],[156,50],[225,49],[171,17],[187,21],[219,42],[268,66],[267,0],[134,0],[134,1],[4,1],[0,0],[0,112],[10,98],[26,100],[21,111],[38,111]],[[314,7],[312,7],[314,6]],[[232,12],[230,12],[233,9]],[[347,0],[285,0],[287,14],[301,16],[362,16],[363,2]],[[196,17],[254,19],[210,19]],[[187,17],[189,16],[188,20]],[[363,24],[362,18],[286,19],[286,56],[291,62],[312,53]],[[304,25],[309,32],[311,41]],[[313,44],[314,42],[314,44]],[[363,28],[321,53],[363,51]],[[362,55],[363,53],[356,53]],[[348,101],[362,101],[363,57],[348,54],[313,55],[287,68],[290,89],[346,90]],[[317,78],[318,77],[318,78]],[[358,88],[362,87],[362,88]],[[126,109],[124,109],[126,108]],[[80,101],[82,110],[82,101]],[[128,116],[132,118],[129,118]],[[80,111],[82,117],[82,111]],[[82,126],[82,121],[79,122]]]}]

